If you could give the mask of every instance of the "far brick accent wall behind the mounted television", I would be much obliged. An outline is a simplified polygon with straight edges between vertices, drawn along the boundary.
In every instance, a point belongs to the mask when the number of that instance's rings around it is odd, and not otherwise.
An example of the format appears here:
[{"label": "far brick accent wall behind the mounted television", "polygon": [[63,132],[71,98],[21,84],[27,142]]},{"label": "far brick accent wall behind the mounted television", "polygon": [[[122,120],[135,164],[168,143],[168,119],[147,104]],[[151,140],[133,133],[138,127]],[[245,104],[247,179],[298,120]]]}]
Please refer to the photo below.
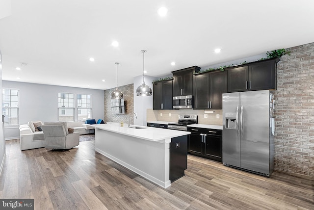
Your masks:
[{"label": "far brick accent wall behind the mounted television", "polygon": [[[125,114],[112,114],[111,113],[111,92],[115,89],[105,90],[105,122],[121,122],[127,123],[129,120],[129,113],[133,111],[133,84],[124,85],[118,87],[123,93],[123,98],[126,105]],[[130,118],[131,124],[133,124],[133,115]]]}]

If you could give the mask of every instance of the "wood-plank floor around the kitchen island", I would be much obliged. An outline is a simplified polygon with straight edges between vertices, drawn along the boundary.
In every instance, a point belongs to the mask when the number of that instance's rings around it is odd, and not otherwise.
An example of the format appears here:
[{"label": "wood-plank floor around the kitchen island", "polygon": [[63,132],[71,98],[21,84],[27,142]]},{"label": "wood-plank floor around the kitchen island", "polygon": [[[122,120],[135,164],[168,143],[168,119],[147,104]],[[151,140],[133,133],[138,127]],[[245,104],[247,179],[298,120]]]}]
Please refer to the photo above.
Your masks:
[{"label": "wood-plank floor around the kitchen island", "polygon": [[185,176],[163,189],[95,152],[94,141],[57,152],[10,140],[0,198],[34,198],[36,210],[314,210],[314,178],[265,178],[188,156]]}]

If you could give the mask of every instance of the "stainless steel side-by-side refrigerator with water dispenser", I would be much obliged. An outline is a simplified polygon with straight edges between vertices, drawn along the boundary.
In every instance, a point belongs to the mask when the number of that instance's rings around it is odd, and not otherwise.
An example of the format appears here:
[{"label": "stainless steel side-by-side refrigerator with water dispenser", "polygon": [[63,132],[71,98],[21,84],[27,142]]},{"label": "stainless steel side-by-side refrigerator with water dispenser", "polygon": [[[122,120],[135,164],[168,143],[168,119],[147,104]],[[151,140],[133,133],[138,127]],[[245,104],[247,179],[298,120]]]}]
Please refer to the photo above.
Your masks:
[{"label": "stainless steel side-by-side refrigerator with water dispenser", "polygon": [[224,93],[222,100],[222,162],[269,177],[274,170],[273,94]]}]

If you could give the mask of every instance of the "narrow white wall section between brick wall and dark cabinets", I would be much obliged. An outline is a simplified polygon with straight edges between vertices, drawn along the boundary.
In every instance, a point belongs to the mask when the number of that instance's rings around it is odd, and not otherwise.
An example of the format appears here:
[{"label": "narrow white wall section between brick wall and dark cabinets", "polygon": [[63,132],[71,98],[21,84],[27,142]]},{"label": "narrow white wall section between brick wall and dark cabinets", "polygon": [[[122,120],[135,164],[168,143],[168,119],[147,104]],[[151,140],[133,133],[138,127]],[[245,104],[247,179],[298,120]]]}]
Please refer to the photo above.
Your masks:
[{"label": "narrow white wall section between brick wall and dark cabinets", "polygon": [[[156,78],[145,76],[145,84],[153,89],[153,80]],[[134,117],[134,125],[147,126],[146,123],[146,109],[153,108],[153,95],[152,96],[136,96],[136,89],[143,83],[143,75],[133,78],[134,89],[134,113],[136,113],[137,119]]]}]

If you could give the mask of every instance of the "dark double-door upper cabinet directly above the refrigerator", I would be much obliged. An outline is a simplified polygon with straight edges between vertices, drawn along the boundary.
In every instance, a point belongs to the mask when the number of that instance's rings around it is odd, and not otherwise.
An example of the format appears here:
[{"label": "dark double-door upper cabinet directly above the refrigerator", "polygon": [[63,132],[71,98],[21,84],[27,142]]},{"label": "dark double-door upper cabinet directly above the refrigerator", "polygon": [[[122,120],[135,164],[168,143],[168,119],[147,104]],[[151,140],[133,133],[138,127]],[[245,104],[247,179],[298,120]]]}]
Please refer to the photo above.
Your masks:
[{"label": "dark double-door upper cabinet directly above the refrigerator", "polygon": [[256,61],[226,68],[228,93],[251,90],[275,90],[279,58]]}]

